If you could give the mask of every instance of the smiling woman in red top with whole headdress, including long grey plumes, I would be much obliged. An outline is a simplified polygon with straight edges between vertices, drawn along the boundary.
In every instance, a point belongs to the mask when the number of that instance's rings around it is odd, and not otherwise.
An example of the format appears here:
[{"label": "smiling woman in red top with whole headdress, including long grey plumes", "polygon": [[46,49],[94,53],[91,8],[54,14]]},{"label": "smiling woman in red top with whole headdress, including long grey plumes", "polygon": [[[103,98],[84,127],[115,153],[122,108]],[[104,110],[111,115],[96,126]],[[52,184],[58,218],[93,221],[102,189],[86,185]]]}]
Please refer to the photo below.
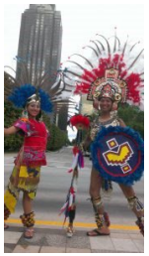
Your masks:
[{"label": "smiling woman in red top with whole headdress, including long grey plumes", "polygon": [[[5,66],[15,70],[11,66]],[[42,111],[49,114],[52,108],[63,104],[69,105],[72,88],[68,88],[63,82],[62,75],[53,71],[55,83],[49,86],[51,74],[48,70],[37,69],[35,75],[31,75],[28,64],[20,63],[20,75],[14,78],[8,74],[13,82],[5,86],[5,99],[9,99],[17,108],[24,108],[22,117],[12,127],[5,128],[5,135],[20,133],[24,136],[24,144],[15,160],[15,167],[10,177],[8,189],[5,192],[4,217],[15,211],[19,193],[22,191],[24,214],[21,220],[26,227],[25,237],[32,238],[34,235],[34,211],[32,200],[36,196],[37,185],[40,176],[40,167],[46,165],[45,149],[49,133],[42,122]],[[16,75],[17,77],[17,75]],[[34,84],[34,85],[33,85]],[[41,89],[44,87],[44,90]],[[50,95],[50,97],[49,97]],[[8,225],[4,223],[4,228]]]}]

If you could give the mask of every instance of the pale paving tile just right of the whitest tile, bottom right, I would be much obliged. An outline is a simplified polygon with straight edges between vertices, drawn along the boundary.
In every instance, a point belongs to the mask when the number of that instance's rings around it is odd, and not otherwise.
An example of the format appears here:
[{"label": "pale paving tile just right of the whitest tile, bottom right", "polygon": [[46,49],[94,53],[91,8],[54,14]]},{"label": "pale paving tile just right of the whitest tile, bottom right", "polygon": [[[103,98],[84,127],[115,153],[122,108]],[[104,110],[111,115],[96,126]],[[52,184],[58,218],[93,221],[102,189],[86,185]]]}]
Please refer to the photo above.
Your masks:
[{"label": "pale paving tile just right of the whitest tile, bottom right", "polygon": [[136,245],[130,239],[112,238],[112,243],[116,251],[139,252]]}]

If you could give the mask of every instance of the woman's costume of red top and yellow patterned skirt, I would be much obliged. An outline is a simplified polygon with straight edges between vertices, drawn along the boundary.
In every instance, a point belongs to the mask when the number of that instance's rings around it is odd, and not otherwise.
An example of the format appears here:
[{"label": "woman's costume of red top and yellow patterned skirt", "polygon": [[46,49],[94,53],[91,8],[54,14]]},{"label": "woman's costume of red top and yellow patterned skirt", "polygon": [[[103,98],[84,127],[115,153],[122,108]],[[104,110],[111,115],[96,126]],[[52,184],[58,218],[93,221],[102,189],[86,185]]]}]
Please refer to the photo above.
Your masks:
[{"label": "woman's costume of red top and yellow patterned skirt", "polygon": [[[35,198],[40,177],[40,166],[46,165],[45,149],[48,132],[43,122],[21,118],[14,124],[24,133],[24,145],[16,160],[10,177],[8,190],[5,192],[5,207],[12,213],[15,211],[19,192],[28,192]],[[5,218],[6,219],[6,218]]]}]

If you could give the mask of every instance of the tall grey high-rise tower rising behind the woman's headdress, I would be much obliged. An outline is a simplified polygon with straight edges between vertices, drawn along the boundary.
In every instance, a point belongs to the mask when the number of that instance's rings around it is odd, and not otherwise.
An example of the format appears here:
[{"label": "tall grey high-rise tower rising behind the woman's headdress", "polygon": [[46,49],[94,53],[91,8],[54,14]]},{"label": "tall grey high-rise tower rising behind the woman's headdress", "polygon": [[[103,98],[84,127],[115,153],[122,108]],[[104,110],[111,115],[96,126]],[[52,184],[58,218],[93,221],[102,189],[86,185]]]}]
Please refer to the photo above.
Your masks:
[{"label": "tall grey high-rise tower rising behind the woman's headdress", "polygon": [[60,64],[62,25],[61,14],[54,4],[30,4],[22,14],[17,56],[17,78],[24,75],[21,67],[26,64],[31,82],[48,72],[50,79],[43,85],[49,87],[55,81]]}]

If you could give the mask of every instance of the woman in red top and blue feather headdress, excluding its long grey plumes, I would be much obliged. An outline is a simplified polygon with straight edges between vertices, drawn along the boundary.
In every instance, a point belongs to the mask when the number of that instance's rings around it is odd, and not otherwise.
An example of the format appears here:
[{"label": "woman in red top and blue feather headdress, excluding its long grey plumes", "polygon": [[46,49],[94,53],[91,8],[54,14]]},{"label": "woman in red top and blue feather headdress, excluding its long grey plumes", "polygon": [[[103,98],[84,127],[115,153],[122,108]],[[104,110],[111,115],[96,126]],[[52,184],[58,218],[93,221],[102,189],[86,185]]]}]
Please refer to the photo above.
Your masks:
[{"label": "woman in red top and blue feather headdress, excluding its long grey plumes", "polygon": [[[19,133],[24,136],[23,146],[15,160],[7,191],[4,195],[4,219],[7,220],[15,207],[20,192],[23,192],[23,210],[20,216],[25,226],[24,236],[34,236],[35,213],[33,199],[36,197],[40,167],[46,165],[45,150],[49,136],[41,120],[41,111],[50,113],[52,104],[48,94],[32,84],[13,89],[9,96],[16,107],[24,108],[22,117],[11,127],[4,129],[4,135]],[[4,228],[8,225],[4,223]]]}]

